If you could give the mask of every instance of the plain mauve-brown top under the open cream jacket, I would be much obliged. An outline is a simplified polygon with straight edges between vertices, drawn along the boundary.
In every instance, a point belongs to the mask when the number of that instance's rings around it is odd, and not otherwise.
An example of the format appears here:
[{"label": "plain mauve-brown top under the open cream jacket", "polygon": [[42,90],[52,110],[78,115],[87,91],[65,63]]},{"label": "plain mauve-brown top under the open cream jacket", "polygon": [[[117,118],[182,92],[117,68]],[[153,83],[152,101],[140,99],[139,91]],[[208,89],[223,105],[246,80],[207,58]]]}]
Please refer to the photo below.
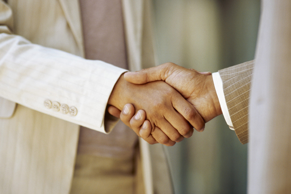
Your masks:
[{"label": "plain mauve-brown top under the open cream jacket", "polygon": [[[127,69],[121,0],[80,0],[86,59]],[[78,154],[132,157],[135,133],[119,122],[110,134],[81,127]]]}]

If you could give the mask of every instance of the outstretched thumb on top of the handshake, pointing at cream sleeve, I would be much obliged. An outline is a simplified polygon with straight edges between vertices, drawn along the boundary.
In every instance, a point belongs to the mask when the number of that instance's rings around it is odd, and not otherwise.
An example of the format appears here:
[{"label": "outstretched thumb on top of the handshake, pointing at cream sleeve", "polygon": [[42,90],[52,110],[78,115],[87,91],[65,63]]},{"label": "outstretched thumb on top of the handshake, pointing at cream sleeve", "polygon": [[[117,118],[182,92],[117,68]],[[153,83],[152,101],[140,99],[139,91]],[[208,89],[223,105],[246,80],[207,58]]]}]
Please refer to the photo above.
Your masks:
[{"label": "outstretched thumb on top of the handshake, pointing at cream sleeve", "polygon": [[135,84],[144,84],[151,81],[165,81],[178,65],[166,63],[156,67],[150,67],[136,72],[126,72],[124,78],[126,81]]}]

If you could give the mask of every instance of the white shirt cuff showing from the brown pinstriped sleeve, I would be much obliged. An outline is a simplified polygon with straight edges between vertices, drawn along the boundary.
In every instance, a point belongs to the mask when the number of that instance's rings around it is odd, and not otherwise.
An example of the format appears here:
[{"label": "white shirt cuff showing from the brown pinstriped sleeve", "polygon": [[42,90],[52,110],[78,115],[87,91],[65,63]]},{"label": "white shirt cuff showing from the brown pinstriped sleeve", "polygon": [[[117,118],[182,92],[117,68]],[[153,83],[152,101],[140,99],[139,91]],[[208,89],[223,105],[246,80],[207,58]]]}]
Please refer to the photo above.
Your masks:
[{"label": "white shirt cuff showing from the brown pinstriped sleeve", "polygon": [[223,116],[225,117],[226,123],[229,126],[229,129],[234,130],[231,119],[230,119],[230,115],[226,106],[226,98],[223,92],[223,83],[222,83],[219,73],[218,72],[212,73],[212,79],[213,79],[216,94],[220,103]]}]

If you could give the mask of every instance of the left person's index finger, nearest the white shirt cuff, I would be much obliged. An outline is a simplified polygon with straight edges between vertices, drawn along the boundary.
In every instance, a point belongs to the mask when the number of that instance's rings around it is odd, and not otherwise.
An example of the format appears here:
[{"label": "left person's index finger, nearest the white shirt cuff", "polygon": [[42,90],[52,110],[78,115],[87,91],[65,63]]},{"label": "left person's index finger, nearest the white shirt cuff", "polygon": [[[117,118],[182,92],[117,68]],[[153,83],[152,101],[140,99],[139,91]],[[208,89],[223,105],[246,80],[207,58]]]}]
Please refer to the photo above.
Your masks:
[{"label": "left person's index finger, nearest the white shirt cuff", "polygon": [[[192,104],[185,100],[181,95],[177,94],[172,98],[173,107],[180,113],[197,131],[205,128],[205,121],[197,112]],[[178,128],[181,135],[188,136],[189,131],[186,128]],[[193,132],[192,132],[193,133]],[[192,134],[191,134],[192,135]],[[185,137],[184,136],[184,137]]]}]

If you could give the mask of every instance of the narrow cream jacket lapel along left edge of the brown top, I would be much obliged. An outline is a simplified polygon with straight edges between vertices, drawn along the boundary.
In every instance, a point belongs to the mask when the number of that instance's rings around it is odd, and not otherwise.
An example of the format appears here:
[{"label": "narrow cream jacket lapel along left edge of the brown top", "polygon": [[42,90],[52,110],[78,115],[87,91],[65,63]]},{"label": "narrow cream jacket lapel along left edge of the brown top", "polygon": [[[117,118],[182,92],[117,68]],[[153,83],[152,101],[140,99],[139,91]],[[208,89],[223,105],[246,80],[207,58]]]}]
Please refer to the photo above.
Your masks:
[{"label": "narrow cream jacket lapel along left edge of the brown top", "polygon": [[59,0],[66,20],[84,57],[83,32],[79,0]]}]

